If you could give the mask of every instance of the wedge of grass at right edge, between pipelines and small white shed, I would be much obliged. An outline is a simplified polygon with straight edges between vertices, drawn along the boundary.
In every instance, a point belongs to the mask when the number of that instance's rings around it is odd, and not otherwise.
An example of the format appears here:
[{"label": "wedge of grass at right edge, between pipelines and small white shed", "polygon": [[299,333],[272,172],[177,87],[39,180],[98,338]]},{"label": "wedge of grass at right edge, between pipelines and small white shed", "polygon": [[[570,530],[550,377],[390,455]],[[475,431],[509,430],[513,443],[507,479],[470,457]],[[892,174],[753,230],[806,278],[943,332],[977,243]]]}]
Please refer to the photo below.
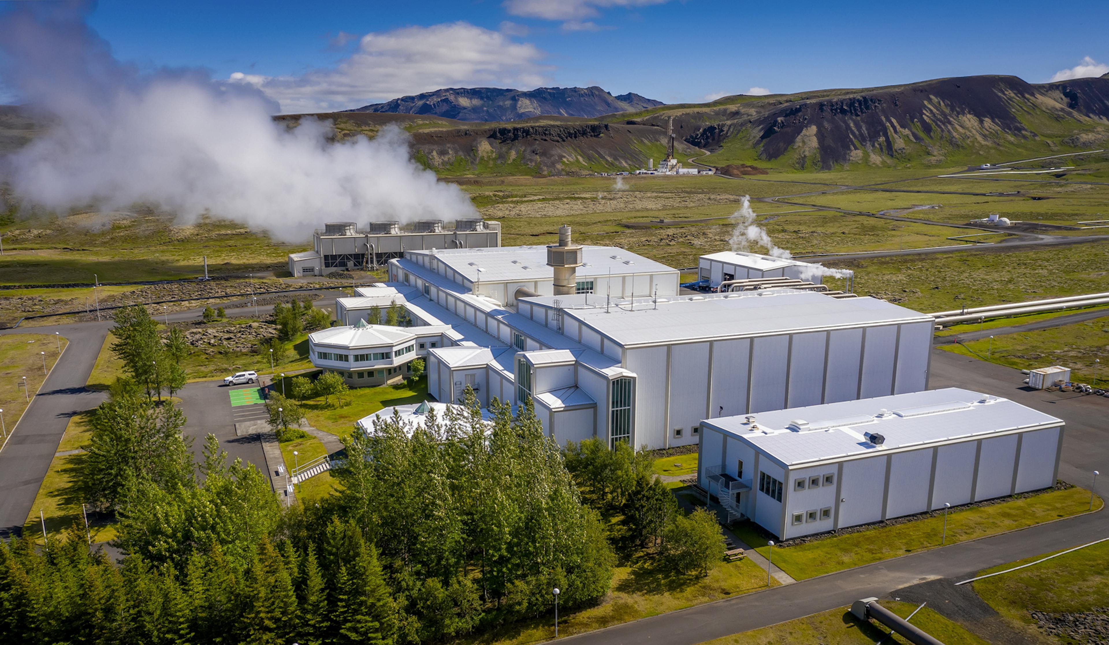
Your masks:
[{"label": "wedge of grass at right edge, between pipelines and small white shed", "polygon": [[[1070,380],[1093,385],[1093,361],[1103,358],[1109,348],[1109,316],[1050,329],[1003,334],[993,340],[983,338],[965,345],[944,345],[940,348],[979,358],[967,350],[970,348],[990,362],[1017,369],[1064,365],[1071,369]],[[1109,366],[1101,365],[1097,377],[1101,386],[1109,382]]]}]

